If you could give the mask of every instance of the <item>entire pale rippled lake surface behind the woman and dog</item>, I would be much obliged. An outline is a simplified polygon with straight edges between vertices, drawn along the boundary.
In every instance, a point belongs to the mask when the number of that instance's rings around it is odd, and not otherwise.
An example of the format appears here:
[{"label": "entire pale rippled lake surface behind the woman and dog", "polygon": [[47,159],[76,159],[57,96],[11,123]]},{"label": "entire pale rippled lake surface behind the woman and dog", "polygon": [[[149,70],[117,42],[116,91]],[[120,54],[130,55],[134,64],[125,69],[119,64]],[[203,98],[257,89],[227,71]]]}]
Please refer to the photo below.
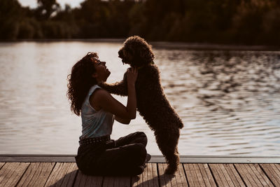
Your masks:
[{"label": "entire pale rippled lake surface behind the woman and dog", "polygon": [[[111,70],[107,82],[120,81],[127,69],[121,45],[0,43],[0,153],[76,154],[81,120],[70,111],[66,76],[96,51]],[[185,125],[181,155],[280,155],[279,51],[153,50],[165,94]],[[116,99],[126,104],[126,97]],[[135,131],[147,134],[148,153],[161,154],[139,113],[130,125],[115,122],[111,137]]]}]

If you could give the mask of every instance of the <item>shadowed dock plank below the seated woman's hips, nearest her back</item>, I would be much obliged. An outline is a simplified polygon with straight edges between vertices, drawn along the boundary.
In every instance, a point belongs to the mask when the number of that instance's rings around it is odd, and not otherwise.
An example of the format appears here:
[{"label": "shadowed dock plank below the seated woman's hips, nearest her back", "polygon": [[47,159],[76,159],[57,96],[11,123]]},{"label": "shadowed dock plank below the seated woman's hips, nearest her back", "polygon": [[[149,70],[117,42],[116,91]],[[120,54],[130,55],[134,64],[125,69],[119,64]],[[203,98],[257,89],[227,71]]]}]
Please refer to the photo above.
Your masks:
[{"label": "shadowed dock plank below the seated woman's hips, nearest her back", "polygon": [[78,171],[78,176],[76,178],[74,186],[101,187],[103,178],[103,176],[90,176]]}]

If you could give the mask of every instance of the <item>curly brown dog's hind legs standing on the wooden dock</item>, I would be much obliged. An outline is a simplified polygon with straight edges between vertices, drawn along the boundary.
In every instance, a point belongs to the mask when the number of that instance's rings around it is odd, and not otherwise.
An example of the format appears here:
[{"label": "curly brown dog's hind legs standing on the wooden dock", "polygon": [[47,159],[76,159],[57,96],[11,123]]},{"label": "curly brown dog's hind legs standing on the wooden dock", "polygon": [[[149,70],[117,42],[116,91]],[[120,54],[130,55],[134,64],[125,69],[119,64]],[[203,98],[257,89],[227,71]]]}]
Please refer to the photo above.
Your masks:
[{"label": "curly brown dog's hind legs standing on the wooden dock", "polygon": [[158,147],[167,161],[165,174],[174,174],[179,167],[180,160],[177,148],[179,135],[180,130],[176,128],[168,131],[155,130],[155,139]]}]

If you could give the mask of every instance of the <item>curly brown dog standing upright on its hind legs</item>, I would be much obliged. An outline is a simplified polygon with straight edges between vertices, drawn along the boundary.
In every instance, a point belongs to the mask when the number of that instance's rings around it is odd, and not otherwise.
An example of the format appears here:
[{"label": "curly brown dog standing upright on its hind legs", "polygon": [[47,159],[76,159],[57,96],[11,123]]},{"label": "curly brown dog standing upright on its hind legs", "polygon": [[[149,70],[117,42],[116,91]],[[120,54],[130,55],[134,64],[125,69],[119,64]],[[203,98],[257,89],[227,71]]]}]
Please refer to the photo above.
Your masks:
[{"label": "curly brown dog standing upright on its hind legs", "polygon": [[[138,77],[135,83],[137,92],[137,110],[155,132],[160,151],[167,160],[165,174],[174,174],[179,165],[178,141],[183,123],[169,104],[160,84],[160,71],[153,63],[151,46],[139,36],[131,36],[118,52],[124,64],[137,67]],[[112,94],[127,96],[127,79],[101,86]]]}]

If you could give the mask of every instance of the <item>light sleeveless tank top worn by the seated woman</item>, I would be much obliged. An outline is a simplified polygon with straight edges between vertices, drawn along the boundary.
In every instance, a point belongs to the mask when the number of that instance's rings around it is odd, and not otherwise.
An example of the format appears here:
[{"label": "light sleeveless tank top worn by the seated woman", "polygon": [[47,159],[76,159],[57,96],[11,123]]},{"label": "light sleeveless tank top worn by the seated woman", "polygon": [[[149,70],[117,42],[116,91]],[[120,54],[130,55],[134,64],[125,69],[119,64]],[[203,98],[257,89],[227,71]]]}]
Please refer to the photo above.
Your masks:
[{"label": "light sleeveless tank top worn by the seated woman", "polygon": [[103,137],[105,135],[110,135],[112,133],[112,126],[114,117],[112,113],[100,109],[95,111],[90,105],[90,95],[97,90],[102,89],[98,85],[92,86],[90,88],[87,97],[85,97],[85,102],[81,109],[82,117],[82,135],[81,139]]}]

